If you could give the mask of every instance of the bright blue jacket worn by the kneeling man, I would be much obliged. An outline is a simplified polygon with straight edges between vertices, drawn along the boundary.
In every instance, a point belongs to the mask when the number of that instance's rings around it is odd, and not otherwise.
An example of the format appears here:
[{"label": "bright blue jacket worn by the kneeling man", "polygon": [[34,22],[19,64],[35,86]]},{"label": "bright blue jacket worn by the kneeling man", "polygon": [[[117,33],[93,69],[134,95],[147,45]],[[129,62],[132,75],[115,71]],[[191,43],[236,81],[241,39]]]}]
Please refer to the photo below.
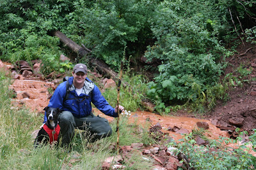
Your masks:
[{"label": "bright blue jacket worn by the kneeling man", "polygon": [[[78,97],[76,94],[76,89],[73,85],[73,78],[68,78],[68,83],[70,84],[69,90],[70,94],[68,99],[65,100],[66,96],[66,81],[58,85],[57,89],[51,97],[49,102],[49,107],[60,108],[63,111],[70,111],[74,117],[86,117],[92,112],[91,102],[102,111],[105,115],[110,117],[117,117],[115,109],[108,104],[106,99],[102,96],[99,88],[88,78],[84,81],[83,90],[85,94],[80,94]],[[81,99],[81,97],[84,97]],[[47,121],[46,114],[44,116],[44,122]]]}]

